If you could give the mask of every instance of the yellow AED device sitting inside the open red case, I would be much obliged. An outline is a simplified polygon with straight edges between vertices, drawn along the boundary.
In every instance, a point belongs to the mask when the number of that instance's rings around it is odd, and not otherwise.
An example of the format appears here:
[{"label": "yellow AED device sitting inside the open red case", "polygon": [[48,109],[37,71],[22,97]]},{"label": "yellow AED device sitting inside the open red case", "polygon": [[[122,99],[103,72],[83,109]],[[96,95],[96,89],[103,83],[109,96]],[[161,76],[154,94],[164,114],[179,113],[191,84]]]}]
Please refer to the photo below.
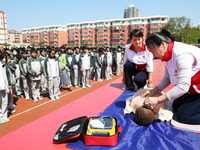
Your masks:
[{"label": "yellow AED device sitting inside the open red case", "polygon": [[86,135],[113,136],[116,134],[116,121],[112,117],[94,117],[89,119]]}]

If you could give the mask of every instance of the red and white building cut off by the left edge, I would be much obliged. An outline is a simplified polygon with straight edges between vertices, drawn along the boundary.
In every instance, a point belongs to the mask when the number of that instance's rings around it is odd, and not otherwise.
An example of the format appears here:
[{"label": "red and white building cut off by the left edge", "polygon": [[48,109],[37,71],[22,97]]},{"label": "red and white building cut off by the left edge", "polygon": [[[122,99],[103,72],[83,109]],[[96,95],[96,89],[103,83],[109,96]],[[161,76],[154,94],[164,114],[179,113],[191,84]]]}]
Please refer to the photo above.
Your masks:
[{"label": "red and white building cut off by the left edge", "polygon": [[7,42],[6,13],[0,10],[0,44]]}]

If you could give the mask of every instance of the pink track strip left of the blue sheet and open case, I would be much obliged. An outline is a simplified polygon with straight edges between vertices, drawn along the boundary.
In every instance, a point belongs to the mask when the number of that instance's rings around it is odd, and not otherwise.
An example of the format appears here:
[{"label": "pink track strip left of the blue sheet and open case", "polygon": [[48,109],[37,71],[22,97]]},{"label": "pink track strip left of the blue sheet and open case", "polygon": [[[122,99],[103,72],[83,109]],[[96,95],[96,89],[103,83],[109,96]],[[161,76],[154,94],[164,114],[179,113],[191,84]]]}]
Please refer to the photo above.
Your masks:
[{"label": "pink track strip left of the blue sheet and open case", "polygon": [[[55,150],[66,149],[63,144],[52,144],[60,125],[80,116],[97,116],[108,107],[123,90],[121,78],[87,94],[48,115],[0,138],[2,150]],[[39,113],[39,112],[38,112]]]}]

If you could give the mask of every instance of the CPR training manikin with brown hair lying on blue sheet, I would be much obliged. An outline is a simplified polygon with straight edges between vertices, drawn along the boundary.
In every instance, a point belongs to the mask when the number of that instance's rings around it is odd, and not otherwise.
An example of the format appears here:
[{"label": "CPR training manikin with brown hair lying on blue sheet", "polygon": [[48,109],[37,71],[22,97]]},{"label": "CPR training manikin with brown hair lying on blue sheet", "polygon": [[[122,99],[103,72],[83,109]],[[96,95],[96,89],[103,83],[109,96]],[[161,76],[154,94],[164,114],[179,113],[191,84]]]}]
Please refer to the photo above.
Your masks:
[{"label": "CPR training manikin with brown hair lying on blue sheet", "polygon": [[[173,116],[171,103],[161,103],[151,108],[144,106],[143,103],[146,98],[141,97],[141,95],[146,91],[149,91],[149,89],[140,89],[133,97],[127,99],[124,114],[133,112],[135,114],[135,122],[144,126],[150,125],[153,120],[171,120]],[[159,97],[163,94],[163,92],[157,92],[154,97]]]}]

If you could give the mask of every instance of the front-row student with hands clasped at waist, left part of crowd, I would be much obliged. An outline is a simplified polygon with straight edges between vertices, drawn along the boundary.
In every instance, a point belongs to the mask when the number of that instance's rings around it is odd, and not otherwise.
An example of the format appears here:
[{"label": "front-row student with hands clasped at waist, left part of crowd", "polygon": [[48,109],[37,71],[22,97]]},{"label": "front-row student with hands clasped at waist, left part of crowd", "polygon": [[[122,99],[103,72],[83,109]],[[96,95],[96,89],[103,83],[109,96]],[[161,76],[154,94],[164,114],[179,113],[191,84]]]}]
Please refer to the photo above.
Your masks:
[{"label": "front-row student with hands clasped at waist, left part of crowd", "polygon": [[37,50],[35,48],[31,49],[31,57],[27,61],[27,70],[29,73],[29,78],[31,80],[31,90],[34,102],[38,100],[43,100],[40,97],[40,80],[42,73],[42,65],[39,59],[37,59]]}]

